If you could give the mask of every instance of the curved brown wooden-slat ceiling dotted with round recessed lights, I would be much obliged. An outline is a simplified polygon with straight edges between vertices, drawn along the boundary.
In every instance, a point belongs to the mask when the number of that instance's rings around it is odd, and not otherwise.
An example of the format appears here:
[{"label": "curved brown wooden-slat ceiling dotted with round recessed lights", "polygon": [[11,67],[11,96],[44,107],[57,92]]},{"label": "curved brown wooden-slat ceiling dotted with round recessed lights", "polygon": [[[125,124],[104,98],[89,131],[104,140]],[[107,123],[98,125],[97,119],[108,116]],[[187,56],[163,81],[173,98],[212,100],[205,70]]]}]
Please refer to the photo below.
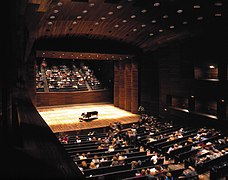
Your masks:
[{"label": "curved brown wooden-slat ceiling dotted with round recessed lights", "polygon": [[[210,32],[216,36],[227,26],[225,0],[24,0],[21,14],[28,31],[28,54],[34,42],[56,39],[86,39],[107,41],[129,46],[132,51],[147,53],[171,42],[182,41],[199,33]],[[37,41],[36,41],[37,40]],[[92,42],[92,41],[91,41]],[[72,46],[75,46],[72,43]],[[42,43],[40,43],[42,44]],[[61,41],[45,50],[62,49]],[[70,44],[70,43],[69,43]],[[77,48],[70,48],[79,52]],[[54,46],[54,45],[53,45]],[[69,45],[68,45],[69,46]],[[121,54],[121,47],[119,46]],[[131,48],[134,47],[134,48]],[[37,46],[40,50],[41,46]],[[126,49],[126,48],[125,48]],[[135,50],[137,49],[137,50]],[[90,49],[83,49],[91,53]],[[118,51],[118,48],[117,48]],[[95,52],[92,52],[95,53]],[[102,53],[102,52],[100,52]],[[108,54],[112,52],[112,47]],[[89,55],[88,55],[89,56]],[[119,58],[119,57],[118,57]]]}]

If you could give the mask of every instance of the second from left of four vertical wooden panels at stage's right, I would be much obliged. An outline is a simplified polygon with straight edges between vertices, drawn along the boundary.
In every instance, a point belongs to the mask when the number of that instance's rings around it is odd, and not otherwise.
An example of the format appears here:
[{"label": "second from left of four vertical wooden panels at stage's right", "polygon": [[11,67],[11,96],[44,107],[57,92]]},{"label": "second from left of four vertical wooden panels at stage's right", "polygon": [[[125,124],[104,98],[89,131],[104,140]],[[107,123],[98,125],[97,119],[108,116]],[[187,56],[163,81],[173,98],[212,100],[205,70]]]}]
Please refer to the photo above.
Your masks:
[{"label": "second from left of four vertical wooden panels at stage's right", "polygon": [[124,109],[125,91],[124,91],[124,62],[119,64],[119,107]]}]

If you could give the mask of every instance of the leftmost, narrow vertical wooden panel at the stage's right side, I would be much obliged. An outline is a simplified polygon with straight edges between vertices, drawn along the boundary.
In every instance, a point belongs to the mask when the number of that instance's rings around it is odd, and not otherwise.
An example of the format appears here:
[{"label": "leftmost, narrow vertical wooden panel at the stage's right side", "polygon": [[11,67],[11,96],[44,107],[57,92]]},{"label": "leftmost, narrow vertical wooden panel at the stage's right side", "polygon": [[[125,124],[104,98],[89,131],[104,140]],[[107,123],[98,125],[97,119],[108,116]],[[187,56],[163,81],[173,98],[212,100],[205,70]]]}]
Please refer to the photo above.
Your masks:
[{"label": "leftmost, narrow vertical wooden panel at the stage's right side", "polygon": [[114,63],[114,106],[119,107],[119,62]]}]

